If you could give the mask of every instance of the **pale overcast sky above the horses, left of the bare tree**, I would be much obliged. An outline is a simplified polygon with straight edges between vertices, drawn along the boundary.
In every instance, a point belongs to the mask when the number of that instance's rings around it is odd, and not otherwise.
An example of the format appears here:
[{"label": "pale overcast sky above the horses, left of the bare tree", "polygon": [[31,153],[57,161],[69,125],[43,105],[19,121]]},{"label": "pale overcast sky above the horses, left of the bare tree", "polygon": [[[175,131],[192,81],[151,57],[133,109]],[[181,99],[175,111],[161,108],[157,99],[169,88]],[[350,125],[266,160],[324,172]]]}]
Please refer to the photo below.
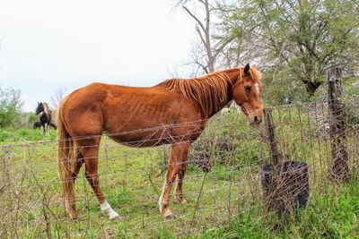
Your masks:
[{"label": "pale overcast sky above the horses, left of the bare tree", "polygon": [[[0,0],[0,85],[24,110],[93,81],[150,86],[188,59],[194,22],[171,0]],[[183,73],[186,76],[188,73]]]}]

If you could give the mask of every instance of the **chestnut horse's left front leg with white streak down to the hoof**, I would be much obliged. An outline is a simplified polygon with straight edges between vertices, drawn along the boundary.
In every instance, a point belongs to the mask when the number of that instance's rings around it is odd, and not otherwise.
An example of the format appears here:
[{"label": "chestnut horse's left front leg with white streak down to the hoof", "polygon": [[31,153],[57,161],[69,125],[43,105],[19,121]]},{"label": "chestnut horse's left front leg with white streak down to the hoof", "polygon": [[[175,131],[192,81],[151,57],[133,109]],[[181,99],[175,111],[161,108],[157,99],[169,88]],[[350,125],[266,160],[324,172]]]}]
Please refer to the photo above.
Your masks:
[{"label": "chestnut horse's left front leg with white streak down to the hoof", "polygon": [[[162,195],[159,200],[160,211],[163,214],[164,218],[174,218],[174,215],[170,209],[170,195],[171,187],[176,176],[180,172],[180,167],[184,160],[187,160],[189,143],[175,143],[172,144],[171,157],[169,162],[169,167],[166,174],[166,181],[163,185]],[[186,155],[186,157],[184,157]]]}]

